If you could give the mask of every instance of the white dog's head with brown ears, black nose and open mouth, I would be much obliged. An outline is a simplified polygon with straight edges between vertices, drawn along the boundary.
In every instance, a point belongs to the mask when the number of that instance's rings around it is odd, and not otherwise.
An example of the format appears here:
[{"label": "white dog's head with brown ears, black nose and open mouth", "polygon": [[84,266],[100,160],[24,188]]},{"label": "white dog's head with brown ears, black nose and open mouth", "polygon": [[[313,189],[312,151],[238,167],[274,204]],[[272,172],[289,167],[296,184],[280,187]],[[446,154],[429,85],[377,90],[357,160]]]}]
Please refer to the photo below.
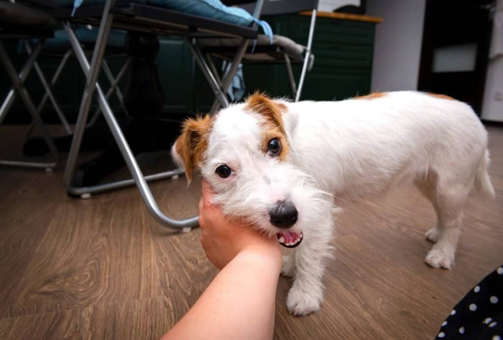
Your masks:
[{"label": "white dog's head with brown ears, black nose and open mouth", "polygon": [[185,121],[172,154],[189,183],[199,169],[224,214],[294,247],[316,215],[326,214],[325,194],[291,161],[296,125],[286,102],[255,94],[213,118]]}]

